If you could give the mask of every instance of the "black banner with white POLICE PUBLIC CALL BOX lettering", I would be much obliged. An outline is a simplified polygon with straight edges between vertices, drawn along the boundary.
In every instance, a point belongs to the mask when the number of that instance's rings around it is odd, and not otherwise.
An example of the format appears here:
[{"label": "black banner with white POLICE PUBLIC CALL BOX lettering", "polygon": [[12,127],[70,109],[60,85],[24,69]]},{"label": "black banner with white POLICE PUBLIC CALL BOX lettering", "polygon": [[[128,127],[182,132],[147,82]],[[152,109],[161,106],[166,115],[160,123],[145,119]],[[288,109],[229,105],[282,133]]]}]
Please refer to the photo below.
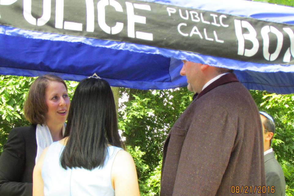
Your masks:
[{"label": "black banner with white POLICE PUBLIC CALL BOX lettering", "polygon": [[294,64],[294,26],[135,0],[0,0],[0,25]]}]

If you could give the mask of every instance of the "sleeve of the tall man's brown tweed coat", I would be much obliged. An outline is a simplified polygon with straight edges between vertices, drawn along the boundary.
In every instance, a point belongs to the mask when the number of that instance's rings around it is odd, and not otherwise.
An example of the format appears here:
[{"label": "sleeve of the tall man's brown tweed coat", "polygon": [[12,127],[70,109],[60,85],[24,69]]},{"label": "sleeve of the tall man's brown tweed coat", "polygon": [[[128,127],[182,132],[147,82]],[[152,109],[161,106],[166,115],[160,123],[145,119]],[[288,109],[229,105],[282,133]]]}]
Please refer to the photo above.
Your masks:
[{"label": "sleeve of the tall man's brown tweed coat", "polygon": [[226,111],[205,110],[187,131],[173,196],[216,195],[228,166],[237,129]]}]

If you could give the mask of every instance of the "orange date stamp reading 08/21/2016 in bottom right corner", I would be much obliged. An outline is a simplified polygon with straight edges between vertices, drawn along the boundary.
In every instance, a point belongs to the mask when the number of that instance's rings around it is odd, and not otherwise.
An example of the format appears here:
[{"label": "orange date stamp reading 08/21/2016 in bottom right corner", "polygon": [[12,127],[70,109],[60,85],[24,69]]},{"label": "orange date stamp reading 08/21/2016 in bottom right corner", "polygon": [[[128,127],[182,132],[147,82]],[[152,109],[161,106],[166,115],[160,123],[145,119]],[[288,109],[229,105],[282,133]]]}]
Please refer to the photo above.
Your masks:
[{"label": "orange date stamp reading 08/21/2016 in bottom right corner", "polygon": [[231,193],[234,194],[254,194],[254,193],[275,193],[274,186],[232,186]]}]

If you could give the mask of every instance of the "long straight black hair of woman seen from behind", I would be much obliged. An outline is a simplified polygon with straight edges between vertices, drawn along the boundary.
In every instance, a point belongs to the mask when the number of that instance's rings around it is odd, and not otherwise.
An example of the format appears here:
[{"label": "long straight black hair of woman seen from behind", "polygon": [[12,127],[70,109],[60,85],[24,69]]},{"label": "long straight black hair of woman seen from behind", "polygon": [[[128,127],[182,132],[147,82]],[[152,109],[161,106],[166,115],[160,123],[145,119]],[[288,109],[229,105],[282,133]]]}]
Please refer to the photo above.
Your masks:
[{"label": "long straight black hair of woman seen from behind", "polygon": [[103,167],[107,145],[123,147],[113,94],[103,79],[86,78],[77,85],[67,120],[62,168]]}]

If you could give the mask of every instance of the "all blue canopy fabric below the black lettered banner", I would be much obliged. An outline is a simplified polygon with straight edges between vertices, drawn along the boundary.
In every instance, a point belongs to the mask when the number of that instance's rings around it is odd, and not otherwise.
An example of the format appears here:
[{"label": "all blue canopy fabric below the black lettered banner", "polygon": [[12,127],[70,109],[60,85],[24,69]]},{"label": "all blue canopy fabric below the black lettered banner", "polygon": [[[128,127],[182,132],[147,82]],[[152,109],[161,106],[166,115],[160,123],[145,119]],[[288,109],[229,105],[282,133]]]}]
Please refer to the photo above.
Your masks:
[{"label": "all blue canopy fabric below the black lettered banner", "polygon": [[[32,39],[30,33],[39,39]],[[31,39],[27,39],[28,37]],[[187,85],[186,78],[179,75],[182,62],[178,59],[195,59],[196,62],[200,59],[210,65],[215,63],[221,67],[222,62],[230,65],[223,67],[233,67],[238,79],[248,89],[267,90],[280,94],[294,93],[293,65],[271,65],[271,67],[139,44],[31,32],[5,26],[0,26],[0,40],[3,43],[0,45],[2,51],[0,74],[40,76],[49,73],[58,75],[65,80],[80,81],[92,75],[94,69],[112,86],[136,89],[169,89]],[[91,50],[87,47],[91,47]],[[31,48],[38,48],[39,52],[31,53]],[[50,58],[52,56],[55,58]],[[115,59],[118,65],[113,67],[107,65],[109,59],[106,56],[111,57],[111,62]],[[170,56],[175,58],[168,58]],[[95,65],[95,59],[104,62],[107,66]],[[133,66],[122,66],[123,62],[128,61]],[[82,73],[80,67],[83,67]],[[148,69],[144,70],[144,67],[148,67]],[[111,69],[115,70],[109,72]],[[259,69],[263,72],[246,69]],[[279,69],[288,73],[279,72]],[[279,73],[264,73],[273,71]],[[113,75],[114,73],[115,75]]]}]

